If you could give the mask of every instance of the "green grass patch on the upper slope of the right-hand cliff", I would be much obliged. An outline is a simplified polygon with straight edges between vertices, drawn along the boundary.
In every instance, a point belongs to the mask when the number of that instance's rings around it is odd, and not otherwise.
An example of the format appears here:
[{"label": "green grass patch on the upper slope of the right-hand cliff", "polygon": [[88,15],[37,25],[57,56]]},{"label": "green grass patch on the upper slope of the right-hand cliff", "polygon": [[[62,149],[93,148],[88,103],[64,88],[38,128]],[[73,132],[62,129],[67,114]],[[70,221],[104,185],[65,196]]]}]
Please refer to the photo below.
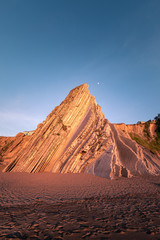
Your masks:
[{"label": "green grass patch on the upper slope of the right-hand cliff", "polygon": [[135,134],[135,133],[129,133],[129,135],[138,144],[147,148],[152,153],[154,153],[154,154],[160,153],[160,139],[159,138],[152,140],[152,141],[148,141],[148,140],[141,138],[138,134]]}]

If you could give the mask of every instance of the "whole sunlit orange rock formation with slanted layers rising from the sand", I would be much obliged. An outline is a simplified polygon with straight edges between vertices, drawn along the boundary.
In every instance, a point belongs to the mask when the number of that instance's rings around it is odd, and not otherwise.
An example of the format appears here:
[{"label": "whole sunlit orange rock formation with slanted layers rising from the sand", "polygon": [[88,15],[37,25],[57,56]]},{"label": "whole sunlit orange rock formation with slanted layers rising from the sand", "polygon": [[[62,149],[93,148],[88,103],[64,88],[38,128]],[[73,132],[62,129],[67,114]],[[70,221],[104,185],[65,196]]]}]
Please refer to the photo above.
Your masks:
[{"label": "whole sunlit orange rock formation with slanted layers rising from the sand", "polygon": [[33,132],[0,138],[3,172],[88,172],[114,178],[160,174],[157,154],[105,119],[88,85],[73,89]]}]

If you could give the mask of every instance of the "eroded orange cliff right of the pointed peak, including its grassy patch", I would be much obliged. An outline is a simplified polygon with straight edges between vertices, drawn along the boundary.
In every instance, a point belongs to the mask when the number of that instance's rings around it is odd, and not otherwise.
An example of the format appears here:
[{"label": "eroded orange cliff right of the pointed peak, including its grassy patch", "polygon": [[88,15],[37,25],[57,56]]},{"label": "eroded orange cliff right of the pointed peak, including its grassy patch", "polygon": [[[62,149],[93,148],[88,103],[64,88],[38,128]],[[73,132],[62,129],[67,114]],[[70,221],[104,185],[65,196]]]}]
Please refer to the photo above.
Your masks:
[{"label": "eroded orange cliff right of the pointed peak, including its grassy patch", "polygon": [[112,124],[111,128],[122,175],[160,175],[160,144],[151,151],[152,141],[156,141],[151,137],[149,140],[144,125]]}]

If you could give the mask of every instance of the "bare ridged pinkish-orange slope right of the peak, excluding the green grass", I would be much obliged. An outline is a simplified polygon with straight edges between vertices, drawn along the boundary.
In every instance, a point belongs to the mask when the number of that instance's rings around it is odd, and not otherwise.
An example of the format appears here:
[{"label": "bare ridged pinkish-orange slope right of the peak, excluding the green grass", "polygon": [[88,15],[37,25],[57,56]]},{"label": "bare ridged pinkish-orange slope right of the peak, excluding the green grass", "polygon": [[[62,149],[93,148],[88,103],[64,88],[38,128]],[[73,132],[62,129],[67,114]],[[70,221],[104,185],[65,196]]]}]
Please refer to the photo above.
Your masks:
[{"label": "bare ridged pinkish-orange slope right of the peak, excluding the green grass", "polygon": [[[136,129],[141,128],[136,125]],[[131,139],[129,134],[133,129],[130,130],[130,125],[125,125],[125,131],[119,124],[110,126],[115,156],[113,176],[160,175],[160,157]]]}]

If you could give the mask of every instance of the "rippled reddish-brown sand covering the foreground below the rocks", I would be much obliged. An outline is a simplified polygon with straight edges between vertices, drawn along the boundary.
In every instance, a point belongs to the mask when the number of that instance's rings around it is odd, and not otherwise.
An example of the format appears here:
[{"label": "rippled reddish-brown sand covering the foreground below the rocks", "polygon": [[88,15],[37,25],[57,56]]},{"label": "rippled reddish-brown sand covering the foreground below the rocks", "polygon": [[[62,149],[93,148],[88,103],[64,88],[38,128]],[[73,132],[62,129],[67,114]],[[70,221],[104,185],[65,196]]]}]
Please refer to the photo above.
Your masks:
[{"label": "rippled reddish-brown sand covering the foreground below the rocks", "polygon": [[160,239],[160,177],[0,173],[0,239]]}]

